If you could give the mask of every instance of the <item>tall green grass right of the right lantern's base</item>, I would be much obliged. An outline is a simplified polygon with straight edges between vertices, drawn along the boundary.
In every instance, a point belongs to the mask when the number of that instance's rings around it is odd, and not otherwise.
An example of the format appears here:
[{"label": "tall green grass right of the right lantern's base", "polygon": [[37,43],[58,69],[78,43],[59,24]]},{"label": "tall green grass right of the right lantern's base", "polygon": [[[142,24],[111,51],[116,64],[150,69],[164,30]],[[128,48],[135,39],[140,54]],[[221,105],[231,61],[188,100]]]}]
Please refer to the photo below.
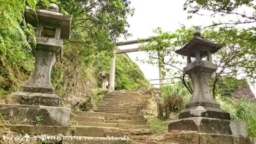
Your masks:
[{"label": "tall green grass right of the right lantern's base", "polygon": [[256,102],[229,97],[218,99],[218,102],[230,113],[232,120],[246,124],[248,136],[256,137]]}]

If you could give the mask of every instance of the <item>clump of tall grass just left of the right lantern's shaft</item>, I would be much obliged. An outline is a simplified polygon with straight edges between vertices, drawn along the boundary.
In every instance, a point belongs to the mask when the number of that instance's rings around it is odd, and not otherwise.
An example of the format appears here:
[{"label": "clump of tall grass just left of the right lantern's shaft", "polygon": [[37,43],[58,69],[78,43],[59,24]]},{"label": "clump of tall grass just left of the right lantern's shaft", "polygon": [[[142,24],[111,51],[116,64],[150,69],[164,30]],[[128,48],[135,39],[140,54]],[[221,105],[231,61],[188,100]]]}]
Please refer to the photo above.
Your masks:
[{"label": "clump of tall grass just left of the right lantern's shaft", "polygon": [[178,112],[186,106],[191,94],[182,84],[166,84],[161,89],[164,104],[169,104],[170,111]]}]

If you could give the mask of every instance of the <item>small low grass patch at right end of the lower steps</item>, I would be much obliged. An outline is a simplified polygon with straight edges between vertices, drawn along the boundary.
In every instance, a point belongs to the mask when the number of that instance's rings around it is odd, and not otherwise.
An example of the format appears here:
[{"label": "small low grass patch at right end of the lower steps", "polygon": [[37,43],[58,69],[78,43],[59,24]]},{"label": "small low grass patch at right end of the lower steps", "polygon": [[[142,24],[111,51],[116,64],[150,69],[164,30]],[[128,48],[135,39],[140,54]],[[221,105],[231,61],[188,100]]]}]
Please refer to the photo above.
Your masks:
[{"label": "small low grass patch at right end of the lower steps", "polygon": [[168,129],[167,122],[168,121],[161,121],[157,118],[148,119],[148,125],[150,125],[150,127],[154,129],[156,132],[166,132]]}]

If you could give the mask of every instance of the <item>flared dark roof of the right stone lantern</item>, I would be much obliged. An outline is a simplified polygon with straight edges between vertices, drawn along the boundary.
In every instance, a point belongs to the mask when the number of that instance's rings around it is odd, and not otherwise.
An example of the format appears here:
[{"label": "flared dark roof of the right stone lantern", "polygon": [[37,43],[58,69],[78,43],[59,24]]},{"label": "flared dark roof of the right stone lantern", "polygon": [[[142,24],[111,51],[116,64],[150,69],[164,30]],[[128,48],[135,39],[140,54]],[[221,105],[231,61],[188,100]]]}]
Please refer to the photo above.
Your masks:
[{"label": "flared dark roof of the right stone lantern", "polygon": [[199,31],[196,31],[192,40],[190,40],[188,44],[186,44],[181,49],[176,50],[175,52],[182,56],[187,56],[190,54],[191,57],[195,58],[195,49],[201,50],[200,56],[201,58],[205,58],[207,56],[207,51],[210,51],[211,54],[213,54],[221,49],[221,47],[218,44],[211,42],[210,40],[206,40],[201,36]]}]

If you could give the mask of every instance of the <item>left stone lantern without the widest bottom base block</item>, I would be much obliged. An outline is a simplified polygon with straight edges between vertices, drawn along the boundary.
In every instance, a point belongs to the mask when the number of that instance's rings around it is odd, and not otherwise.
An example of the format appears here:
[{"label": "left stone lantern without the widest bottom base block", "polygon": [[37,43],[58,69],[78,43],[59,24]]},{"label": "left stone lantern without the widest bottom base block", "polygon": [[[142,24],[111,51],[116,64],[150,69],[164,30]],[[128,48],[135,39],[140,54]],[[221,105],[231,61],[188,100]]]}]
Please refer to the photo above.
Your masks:
[{"label": "left stone lantern without the widest bottom base block", "polygon": [[[36,28],[35,69],[30,79],[20,86],[20,91],[13,93],[15,103],[60,106],[60,97],[54,94],[51,84],[51,69],[61,58],[63,41],[60,38],[70,38],[72,15],[62,15],[58,10],[56,4],[36,13],[26,7],[26,20]],[[29,43],[33,44],[31,37]]]}]

